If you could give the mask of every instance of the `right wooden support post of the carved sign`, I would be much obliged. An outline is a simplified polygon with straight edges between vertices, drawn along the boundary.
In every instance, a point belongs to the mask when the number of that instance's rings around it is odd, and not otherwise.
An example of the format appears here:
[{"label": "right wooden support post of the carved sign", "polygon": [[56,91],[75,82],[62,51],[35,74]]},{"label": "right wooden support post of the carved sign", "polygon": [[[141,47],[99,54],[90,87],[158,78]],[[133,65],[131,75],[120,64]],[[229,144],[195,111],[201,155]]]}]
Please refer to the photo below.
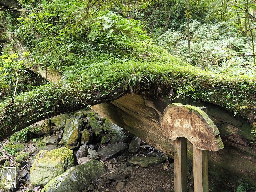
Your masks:
[{"label": "right wooden support post of the carved sign", "polygon": [[209,192],[208,151],[193,147],[194,192]]}]

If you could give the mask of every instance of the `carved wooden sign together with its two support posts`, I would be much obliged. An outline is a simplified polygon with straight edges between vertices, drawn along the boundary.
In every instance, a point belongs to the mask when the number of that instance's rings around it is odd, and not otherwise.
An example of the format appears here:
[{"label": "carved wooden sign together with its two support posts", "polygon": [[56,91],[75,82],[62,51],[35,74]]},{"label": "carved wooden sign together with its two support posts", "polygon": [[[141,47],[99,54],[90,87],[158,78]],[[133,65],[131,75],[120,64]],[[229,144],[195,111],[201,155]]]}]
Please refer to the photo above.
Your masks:
[{"label": "carved wooden sign together with its two support posts", "polygon": [[187,191],[187,139],[193,144],[194,192],[208,192],[208,151],[224,148],[218,128],[198,107],[173,103],[164,110],[161,129],[174,140],[175,192]]}]

